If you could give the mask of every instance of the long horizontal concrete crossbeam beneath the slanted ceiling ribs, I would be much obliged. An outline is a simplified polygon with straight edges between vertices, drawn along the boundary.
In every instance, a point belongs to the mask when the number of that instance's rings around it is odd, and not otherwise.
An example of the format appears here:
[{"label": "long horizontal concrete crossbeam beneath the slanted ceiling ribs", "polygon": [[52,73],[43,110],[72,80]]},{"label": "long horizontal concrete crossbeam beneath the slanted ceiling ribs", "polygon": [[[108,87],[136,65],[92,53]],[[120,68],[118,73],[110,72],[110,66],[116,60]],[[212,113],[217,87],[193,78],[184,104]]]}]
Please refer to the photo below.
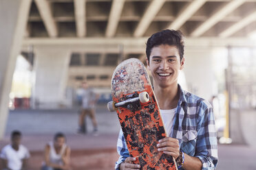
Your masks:
[{"label": "long horizontal concrete crossbeam beneath the slanted ceiling ribs", "polygon": [[[145,52],[145,42],[148,37],[141,38],[25,38],[23,45],[64,45],[65,48],[86,49],[89,51],[101,50],[118,51],[118,45],[124,45],[124,51],[127,48],[133,51]],[[225,47],[228,45],[233,46],[255,46],[255,41],[248,40],[248,38],[186,38],[186,46],[191,47]],[[102,46],[99,49],[98,46]]]}]

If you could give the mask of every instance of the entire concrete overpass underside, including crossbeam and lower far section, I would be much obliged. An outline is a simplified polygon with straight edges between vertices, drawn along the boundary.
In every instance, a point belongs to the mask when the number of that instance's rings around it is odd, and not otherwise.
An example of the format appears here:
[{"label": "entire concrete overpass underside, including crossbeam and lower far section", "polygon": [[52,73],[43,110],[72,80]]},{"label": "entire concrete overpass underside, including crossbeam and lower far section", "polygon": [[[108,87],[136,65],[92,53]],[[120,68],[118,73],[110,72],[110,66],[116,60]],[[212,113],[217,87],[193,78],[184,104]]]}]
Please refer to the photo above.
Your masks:
[{"label": "entire concrete overpass underside, including crossbeam and lower far section", "polygon": [[250,44],[255,9],[256,0],[34,0],[23,45],[72,47],[70,84],[105,86],[121,60],[145,62],[145,42],[160,29],[180,29],[186,45]]}]

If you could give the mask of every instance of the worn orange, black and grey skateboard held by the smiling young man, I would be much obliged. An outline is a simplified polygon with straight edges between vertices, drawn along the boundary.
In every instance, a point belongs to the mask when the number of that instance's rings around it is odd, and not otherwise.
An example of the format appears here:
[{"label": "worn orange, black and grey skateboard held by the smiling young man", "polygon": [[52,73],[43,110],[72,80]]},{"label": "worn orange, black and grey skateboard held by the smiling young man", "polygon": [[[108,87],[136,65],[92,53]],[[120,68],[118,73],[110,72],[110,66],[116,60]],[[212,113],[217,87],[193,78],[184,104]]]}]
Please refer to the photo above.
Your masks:
[{"label": "worn orange, black and grey skateboard held by the smiling young man", "polygon": [[147,70],[136,58],[121,62],[111,79],[107,108],[116,111],[131,157],[140,169],[172,169],[172,156],[158,151],[156,145],[167,136]]}]

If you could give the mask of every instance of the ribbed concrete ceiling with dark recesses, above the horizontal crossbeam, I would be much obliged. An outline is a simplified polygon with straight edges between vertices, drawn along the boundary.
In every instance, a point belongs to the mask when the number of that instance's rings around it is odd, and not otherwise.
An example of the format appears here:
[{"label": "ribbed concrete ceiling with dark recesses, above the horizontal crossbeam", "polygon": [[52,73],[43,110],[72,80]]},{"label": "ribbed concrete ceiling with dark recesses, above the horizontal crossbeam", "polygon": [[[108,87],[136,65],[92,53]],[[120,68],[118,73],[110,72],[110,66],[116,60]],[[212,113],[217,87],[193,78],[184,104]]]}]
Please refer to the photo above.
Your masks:
[{"label": "ribbed concrete ceiling with dark recesses, above the horizontal crossbeam", "polygon": [[28,38],[241,37],[256,29],[256,0],[34,0]]}]

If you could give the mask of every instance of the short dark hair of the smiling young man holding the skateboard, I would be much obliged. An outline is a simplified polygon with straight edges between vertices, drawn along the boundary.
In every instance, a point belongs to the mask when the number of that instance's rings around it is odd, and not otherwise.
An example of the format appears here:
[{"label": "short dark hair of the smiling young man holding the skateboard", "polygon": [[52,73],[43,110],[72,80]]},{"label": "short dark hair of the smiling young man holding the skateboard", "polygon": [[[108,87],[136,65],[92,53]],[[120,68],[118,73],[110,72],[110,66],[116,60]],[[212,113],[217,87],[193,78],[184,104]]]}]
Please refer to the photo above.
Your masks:
[{"label": "short dark hair of the smiling young man holding the skateboard", "polygon": [[176,31],[173,29],[165,29],[153,34],[147,40],[147,60],[149,60],[149,56],[153,47],[157,47],[159,45],[175,45],[179,50],[180,61],[182,60],[184,56],[184,36],[179,30]]}]

